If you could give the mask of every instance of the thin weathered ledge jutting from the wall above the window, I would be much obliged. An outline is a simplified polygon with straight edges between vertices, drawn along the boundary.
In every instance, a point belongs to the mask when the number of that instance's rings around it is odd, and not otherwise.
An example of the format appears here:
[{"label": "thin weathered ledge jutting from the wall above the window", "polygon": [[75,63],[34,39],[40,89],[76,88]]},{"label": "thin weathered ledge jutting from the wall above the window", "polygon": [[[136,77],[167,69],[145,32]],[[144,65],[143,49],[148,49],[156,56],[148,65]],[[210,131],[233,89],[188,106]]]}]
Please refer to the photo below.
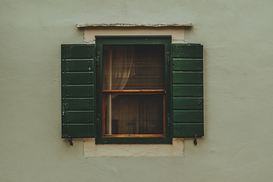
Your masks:
[{"label": "thin weathered ledge jutting from the wall above the window", "polygon": [[121,27],[130,27],[130,26],[150,26],[150,27],[159,27],[159,26],[192,26],[191,23],[182,23],[182,24],[126,24],[126,23],[100,23],[100,24],[93,24],[93,23],[84,23],[84,24],[77,24],[77,27],[88,27],[88,26],[121,26]]}]

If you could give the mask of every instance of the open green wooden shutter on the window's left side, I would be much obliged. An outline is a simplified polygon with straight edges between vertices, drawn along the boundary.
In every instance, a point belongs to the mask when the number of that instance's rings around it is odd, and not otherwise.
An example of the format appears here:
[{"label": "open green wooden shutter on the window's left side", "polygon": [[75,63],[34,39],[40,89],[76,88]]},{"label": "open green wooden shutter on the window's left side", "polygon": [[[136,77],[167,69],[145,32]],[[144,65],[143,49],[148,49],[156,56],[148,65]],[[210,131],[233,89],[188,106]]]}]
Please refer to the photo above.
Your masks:
[{"label": "open green wooden shutter on the window's left side", "polygon": [[62,138],[93,138],[94,44],[62,45]]}]

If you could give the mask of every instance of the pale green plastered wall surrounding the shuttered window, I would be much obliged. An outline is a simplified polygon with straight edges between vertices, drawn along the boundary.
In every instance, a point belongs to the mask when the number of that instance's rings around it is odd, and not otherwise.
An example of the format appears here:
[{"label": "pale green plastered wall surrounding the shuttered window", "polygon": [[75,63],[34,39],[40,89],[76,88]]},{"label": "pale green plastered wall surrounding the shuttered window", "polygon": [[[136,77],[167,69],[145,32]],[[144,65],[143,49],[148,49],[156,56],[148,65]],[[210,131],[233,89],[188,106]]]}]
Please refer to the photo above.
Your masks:
[{"label": "pale green plastered wall surrounding the shuttered window", "polygon": [[[273,2],[0,1],[0,181],[271,181]],[[181,157],[84,157],[61,139],[60,44],[76,23],[192,23],[205,137]]]}]

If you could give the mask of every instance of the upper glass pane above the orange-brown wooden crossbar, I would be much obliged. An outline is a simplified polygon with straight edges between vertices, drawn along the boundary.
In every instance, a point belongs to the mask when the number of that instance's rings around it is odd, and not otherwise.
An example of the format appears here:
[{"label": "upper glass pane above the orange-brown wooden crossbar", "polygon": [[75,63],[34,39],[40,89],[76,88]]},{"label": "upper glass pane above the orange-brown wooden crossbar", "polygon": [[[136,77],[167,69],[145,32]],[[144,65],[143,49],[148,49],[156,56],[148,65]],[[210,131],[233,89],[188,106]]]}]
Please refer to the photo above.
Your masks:
[{"label": "upper glass pane above the orange-brown wooden crossbar", "polygon": [[103,45],[103,90],[164,89],[164,45]]}]

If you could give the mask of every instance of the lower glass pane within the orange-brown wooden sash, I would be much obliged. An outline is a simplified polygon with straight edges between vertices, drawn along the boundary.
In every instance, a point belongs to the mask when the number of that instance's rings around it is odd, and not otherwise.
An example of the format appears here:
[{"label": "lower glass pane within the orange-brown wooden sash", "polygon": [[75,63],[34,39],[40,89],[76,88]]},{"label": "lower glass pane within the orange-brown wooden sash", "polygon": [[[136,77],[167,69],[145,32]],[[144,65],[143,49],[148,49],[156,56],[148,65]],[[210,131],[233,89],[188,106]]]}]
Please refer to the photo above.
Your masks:
[{"label": "lower glass pane within the orange-brown wooden sash", "polygon": [[105,134],[163,134],[163,94],[105,95]]}]

